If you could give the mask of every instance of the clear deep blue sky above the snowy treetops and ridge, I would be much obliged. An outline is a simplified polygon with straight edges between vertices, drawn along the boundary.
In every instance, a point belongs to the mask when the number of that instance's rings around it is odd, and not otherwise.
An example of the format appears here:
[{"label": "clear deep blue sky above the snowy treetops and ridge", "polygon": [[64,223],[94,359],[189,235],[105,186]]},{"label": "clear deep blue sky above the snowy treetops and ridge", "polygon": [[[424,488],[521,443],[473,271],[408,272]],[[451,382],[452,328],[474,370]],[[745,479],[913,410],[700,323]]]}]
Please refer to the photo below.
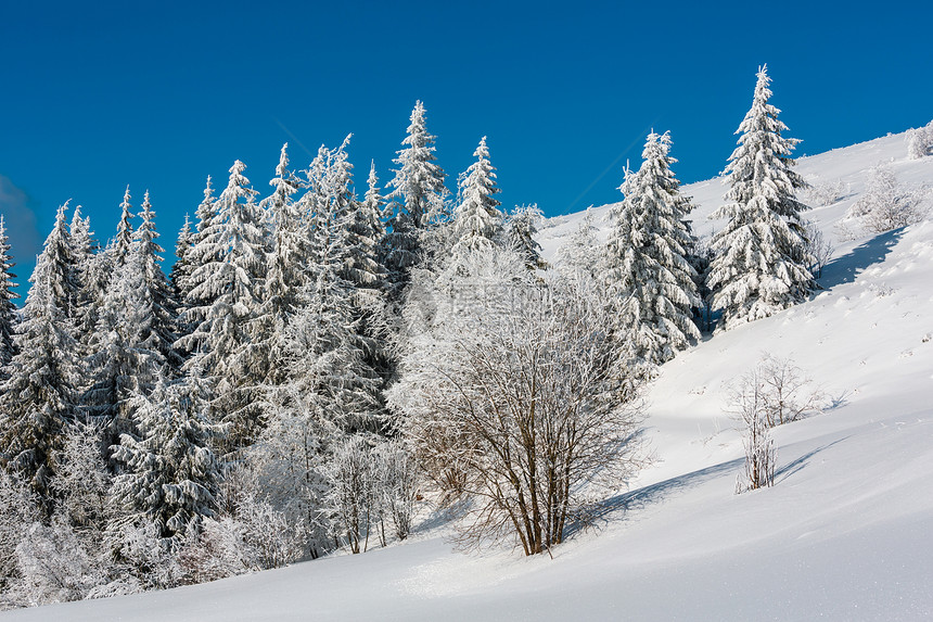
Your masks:
[{"label": "clear deep blue sky above the snowy treetops and ridge", "polygon": [[[417,99],[452,189],[488,136],[507,207],[615,201],[626,158],[670,130],[683,182],[716,175],[768,63],[798,154],[933,117],[931,3],[12,2],[0,14],[0,213],[20,281],[55,207],[113,234],[152,193],[169,254],[207,175],[264,194],[349,132],[385,183]],[[828,4],[828,3],[827,3]]]}]

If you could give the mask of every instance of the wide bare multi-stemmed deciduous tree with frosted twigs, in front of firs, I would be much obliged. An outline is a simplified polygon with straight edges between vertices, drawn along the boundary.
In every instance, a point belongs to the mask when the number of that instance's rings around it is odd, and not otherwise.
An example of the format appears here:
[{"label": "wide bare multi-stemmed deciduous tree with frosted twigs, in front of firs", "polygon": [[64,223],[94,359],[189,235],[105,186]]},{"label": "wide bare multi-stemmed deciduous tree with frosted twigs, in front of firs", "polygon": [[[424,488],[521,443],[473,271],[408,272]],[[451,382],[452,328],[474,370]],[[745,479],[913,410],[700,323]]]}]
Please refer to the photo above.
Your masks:
[{"label": "wide bare multi-stemmed deciduous tree with frosted twigs, in front of firs", "polygon": [[587,495],[637,466],[638,418],[619,399],[605,305],[585,276],[542,283],[510,250],[453,263],[431,325],[408,335],[389,405],[431,481],[473,502],[464,544],[514,538],[539,554],[562,542]]}]

